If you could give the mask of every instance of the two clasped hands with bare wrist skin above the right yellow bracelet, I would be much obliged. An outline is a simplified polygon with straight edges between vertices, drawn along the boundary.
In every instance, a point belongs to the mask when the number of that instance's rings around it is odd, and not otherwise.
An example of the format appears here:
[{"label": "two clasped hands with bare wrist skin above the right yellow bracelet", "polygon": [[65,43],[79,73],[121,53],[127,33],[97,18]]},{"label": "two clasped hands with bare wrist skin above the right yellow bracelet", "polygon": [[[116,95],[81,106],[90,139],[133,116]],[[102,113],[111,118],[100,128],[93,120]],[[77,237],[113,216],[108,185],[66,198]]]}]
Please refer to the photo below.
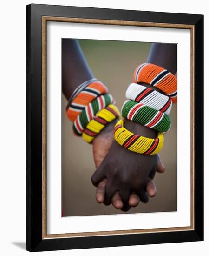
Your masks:
[{"label": "two clasped hands with bare wrist skin above the right yellow bracelet", "polygon": [[[97,170],[91,182],[97,187],[98,203],[128,211],[140,201],[146,203],[149,197],[156,195],[153,178],[156,172],[163,173],[165,168],[158,154],[141,155],[120,146],[114,140],[115,123],[108,124],[93,141]],[[155,130],[133,121],[125,120],[124,127],[135,134],[156,138]]]}]

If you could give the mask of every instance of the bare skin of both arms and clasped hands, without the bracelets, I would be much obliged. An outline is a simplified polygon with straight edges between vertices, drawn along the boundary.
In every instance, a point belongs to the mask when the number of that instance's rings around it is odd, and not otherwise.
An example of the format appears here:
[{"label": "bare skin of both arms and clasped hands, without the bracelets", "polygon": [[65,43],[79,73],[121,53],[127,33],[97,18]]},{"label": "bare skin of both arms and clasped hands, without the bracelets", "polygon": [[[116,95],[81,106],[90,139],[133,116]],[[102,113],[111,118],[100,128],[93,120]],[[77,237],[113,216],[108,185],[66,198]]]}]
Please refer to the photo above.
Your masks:
[{"label": "bare skin of both arms and clasped hands, without the bracelets", "polygon": [[[66,99],[69,99],[79,84],[94,76],[78,40],[63,39],[62,49],[63,93]],[[175,74],[177,45],[152,44],[147,62],[166,67]],[[150,87],[148,84],[141,84]],[[156,87],[152,88],[158,90]],[[156,172],[163,173],[165,168],[159,155],[140,155],[120,146],[114,140],[115,123],[116,121],[108,124],[93,141],[93,156],[97,170],[91,176],[91,181],[97,187],[98,203],[112,203],[116,209],[128,211],[131,207],[136,207],[140,201],[148,202],[149,197],[156,195],[153,178]],[[124,127],[132,133],[156,138],[155,130],[134,121],[124,121]]]}]

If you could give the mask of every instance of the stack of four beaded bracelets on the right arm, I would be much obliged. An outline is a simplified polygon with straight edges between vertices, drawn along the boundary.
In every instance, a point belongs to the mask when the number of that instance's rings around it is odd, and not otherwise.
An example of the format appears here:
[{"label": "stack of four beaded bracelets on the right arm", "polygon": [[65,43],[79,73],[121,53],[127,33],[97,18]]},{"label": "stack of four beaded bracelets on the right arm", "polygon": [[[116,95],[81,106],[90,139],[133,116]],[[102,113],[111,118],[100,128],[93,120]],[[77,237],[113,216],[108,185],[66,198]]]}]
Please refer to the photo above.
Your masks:
[{"label": "stack of four beaded bracelets on the right arm", "polygon": [[[115,140],[133,152],[155,155],[163,147],[163,134],[168,132],[171,126],[169,114],[172,103],[177,102],[177,80],[163,67],[144,63],[136,68],[133,81],[126,91],[127,100],[122,107],[122,116],[155,129],[158,132],[157,138],[135,135],[124,128],[124,120],[120,120],[115,125]],[[156,87],[162,93],[140,85],[140,82]]]}]

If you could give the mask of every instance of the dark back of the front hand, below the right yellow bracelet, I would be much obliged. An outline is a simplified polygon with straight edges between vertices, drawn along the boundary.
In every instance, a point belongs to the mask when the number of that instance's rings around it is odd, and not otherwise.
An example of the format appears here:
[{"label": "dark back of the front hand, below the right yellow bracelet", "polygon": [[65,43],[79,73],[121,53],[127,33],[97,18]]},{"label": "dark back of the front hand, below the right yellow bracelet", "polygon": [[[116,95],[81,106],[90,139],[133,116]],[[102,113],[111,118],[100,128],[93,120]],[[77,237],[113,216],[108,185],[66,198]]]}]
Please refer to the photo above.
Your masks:
[{"label": "dark back of the front hand, below the right yellow bracelet", "polygon": [[157,171],[156,155],[140,155],[121,147],[116,141],[97,171],[92,175],[94,186],[104,178],[104,204],[110,205],[113,195],[119,191],[123,202],[123,210],[129,209],[129,198],[134,191],[142,202],[148,202],[146,184],[149,177],[153,179]]}]

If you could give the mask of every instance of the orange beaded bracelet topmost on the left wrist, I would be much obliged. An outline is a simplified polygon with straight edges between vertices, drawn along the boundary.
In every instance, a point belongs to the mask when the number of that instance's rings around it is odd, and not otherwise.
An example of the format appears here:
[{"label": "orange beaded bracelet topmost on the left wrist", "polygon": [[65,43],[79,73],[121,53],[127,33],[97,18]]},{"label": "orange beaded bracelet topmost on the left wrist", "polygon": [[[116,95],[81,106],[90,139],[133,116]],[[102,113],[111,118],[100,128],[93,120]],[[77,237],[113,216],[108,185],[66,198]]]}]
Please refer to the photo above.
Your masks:
[{"label": "orange beaded bracelet topmost on the left wrist", "polygon": [[[107,87],[101,81],[91,79],[82,84],[83,86],[77,90],[76,95],[70,98],[67,107],[67,117],[74,121],[76,117],[82,112],[82,110],[95,98],[101,94],[108,92]],[[73,93],[74,94],[74,93]]]}]

